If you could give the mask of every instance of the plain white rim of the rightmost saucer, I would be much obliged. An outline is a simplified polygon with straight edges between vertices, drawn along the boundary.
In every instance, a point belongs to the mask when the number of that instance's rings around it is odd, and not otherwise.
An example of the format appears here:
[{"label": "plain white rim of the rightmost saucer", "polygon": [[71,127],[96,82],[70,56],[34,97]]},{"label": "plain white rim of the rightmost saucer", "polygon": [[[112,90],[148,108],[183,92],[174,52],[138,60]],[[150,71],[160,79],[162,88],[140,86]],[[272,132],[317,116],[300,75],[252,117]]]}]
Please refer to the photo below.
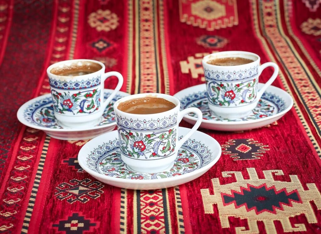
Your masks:
[{"label": "plain white rim of the rightmost saucer", "polygon": [[[264,83],[258,83],[259,87],[260,86],[263,86]],[[205,84],[198,84],[198,85],[194,85],[194,86],[191,86],[191,87],[188,87],[186,89],[183,89],[181,91],[178,91],[177,93],[175,93],[173,96],[176,97],[179,101],[182,100],[182,96],[183,96],[183,93],[187,92],[188,89],[196,89],[196,88],[199,88],[199,87],[202,87],[204,86],[204,90],[206,90],[206,86]],[[271,89],[276,89],[278,90],[280,93],[282,93],[283,95],[287,96],[287,98],[290,100],[290,105],[285,108],[284,110],[280,111],[279,113],[275,114],[275,115],[271,115],[271,116],[268,116],[268,117],[264,117],[264,118],[260,118],[260,119],[251,119],[251,120],[241,120],[241,121],[221,121],[221,120],[210,120],[210,119],[202,119],[202,123],[206,123],[206,124],[217,124],[217,125],[244,125],[244,124],[252,124],[252,123],[258,123],[258,122],[261,122],[261,121],[265,121],[265,120],[269,120],[269,119],[272,119],[272,118],[275,118],[275,117],[279,117],[279,116],[282,116],[284,115],[285,113],[287,113],[292,107],[293,107],[293,98],[291,97],[291,95],[285,91],[285,90],[282,90],[276,86],[273,86],[273,85],[270,85],[269,87],[267,87],[267,89],[265,90],[265,92],[271,92]],[[276,93],[276,92],[273,92],[273,93]],[[286,104],[288,104],[287,101],[285,101]],[[197,118],[195,117],[192,117],[192,116],[189,116],[189,115],[185,115],[183,117],[183,119],[189,119],[189,120],[192,120],[192,121],[196,121]]]}]

